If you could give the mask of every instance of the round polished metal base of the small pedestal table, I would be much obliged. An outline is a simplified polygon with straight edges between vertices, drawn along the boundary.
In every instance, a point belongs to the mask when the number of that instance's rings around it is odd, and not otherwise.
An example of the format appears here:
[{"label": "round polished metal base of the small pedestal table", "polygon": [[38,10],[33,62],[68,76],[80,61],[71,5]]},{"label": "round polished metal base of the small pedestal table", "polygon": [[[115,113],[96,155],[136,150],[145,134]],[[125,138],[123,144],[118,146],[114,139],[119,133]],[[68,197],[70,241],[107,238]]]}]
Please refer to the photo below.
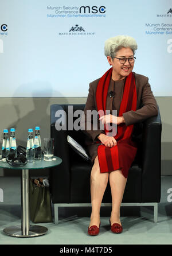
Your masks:
[{"label": "round polished metal base of the small pedestal table", "polygon": [[37,225],[30,225],[29,227],[29,234],[22,235],[21,226],[11,226],[6,227],[3,232],[7,235],[17,236],[17,237],[33,237],[33,236],[40,236],[46,234],[48,228],[37,226]]}]

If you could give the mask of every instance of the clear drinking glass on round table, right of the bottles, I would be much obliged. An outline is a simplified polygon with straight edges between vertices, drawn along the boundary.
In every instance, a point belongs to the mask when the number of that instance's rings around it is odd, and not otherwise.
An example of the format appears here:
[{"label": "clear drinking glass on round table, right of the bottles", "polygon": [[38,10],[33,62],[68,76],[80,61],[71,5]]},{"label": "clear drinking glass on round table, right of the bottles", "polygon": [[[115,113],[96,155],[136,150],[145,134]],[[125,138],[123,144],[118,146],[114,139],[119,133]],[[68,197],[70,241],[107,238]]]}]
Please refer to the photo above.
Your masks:
[{"label": "clear drinking glass on round table, right of the bottles", "polygon": [[52,161],[54,156],[54,139],[44,138],[44,160]]}]

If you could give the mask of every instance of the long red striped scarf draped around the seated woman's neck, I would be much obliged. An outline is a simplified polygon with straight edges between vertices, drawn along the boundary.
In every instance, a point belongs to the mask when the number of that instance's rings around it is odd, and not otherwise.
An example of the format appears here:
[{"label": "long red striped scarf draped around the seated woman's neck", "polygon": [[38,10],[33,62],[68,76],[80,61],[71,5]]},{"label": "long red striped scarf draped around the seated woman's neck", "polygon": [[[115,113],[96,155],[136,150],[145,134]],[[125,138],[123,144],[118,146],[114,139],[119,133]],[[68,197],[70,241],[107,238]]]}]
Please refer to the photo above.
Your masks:
[{"label": "long red striped scarf draped around the seated woman's neck", "polygon": [[[96,90],[97,111],[103,110],[105,115],[108,87],[110,85],[112,68],[110,68],[100,78]],[[126,77],[124,93],[120,104],[119,117],[130,110],[136,111],[136,86],[134,73]],[[131,141],[131,135],[134,125],[126,126],[125,123],[118,125],[118,132],[115,135],[117,145],[109,148],[104,145],[98,146],[97,154],[100,165],[100,172],[112,172],[113,170],[122,170],[124,177],[128,176],[128,170],[134,161],[136,155],[136,145]],[[107,130],[105,129],[105,134]]]}]

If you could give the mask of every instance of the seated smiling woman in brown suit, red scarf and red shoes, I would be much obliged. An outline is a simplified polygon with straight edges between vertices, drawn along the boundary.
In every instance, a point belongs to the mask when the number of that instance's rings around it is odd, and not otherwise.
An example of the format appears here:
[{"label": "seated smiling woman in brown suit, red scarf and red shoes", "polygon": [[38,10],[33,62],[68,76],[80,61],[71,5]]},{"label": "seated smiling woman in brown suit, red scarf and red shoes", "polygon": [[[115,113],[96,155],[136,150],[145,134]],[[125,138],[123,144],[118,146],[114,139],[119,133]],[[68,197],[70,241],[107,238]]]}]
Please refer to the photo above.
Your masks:
[{"label": "seated smiling woman in brown suit, red scarf and red shoes", "polygon": [[[122,232],[120,204],[128,176],[128,169],[136,155],[136,145],[131,139],[134,124],[158,114],[157,103],[151,91],[148,78],[132,72],[137,44],[130,36],[116,36],[105,41],[104,53],[112,66],[105,74],[89,84],[85,105],[87,110],[103,111],[99,121],[105,129],[87,130],[87,118],[81,122],[91,143],[88,151],[93,167],[91,170],[91,221],[89,235],[99,234],[100,205],[105,188],[110,180],[112,211],[111,231]],[[110,110],[110,114],[105,114]],[[117,118],[112,115],[117,111]],[[100,112],[99,112],[100,113]],[[117,134],[108,134],[107,124],[117,125]],[[107,130],[106,130],[107,129]]]}]

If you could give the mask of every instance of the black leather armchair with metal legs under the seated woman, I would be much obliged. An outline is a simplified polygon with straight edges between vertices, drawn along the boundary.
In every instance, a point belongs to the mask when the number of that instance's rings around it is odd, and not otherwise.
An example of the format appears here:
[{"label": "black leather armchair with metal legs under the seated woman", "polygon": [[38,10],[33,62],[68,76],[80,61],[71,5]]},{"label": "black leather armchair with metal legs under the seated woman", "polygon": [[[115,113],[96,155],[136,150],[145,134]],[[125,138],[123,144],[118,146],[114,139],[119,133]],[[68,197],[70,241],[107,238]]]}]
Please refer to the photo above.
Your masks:
[{"label": "black leather armchair with metal legs under the seated woman", "polygon": [[[67,135],[84,146],[85,134],[68,130],[68,106],[73,113],[84,110],[84,104],[53,104],[50,108],[50,130],[54,138],[54,155],[62,158],[62,164],[50,170],[50,193],[54,204],[54,222],[58,223],[58,207],[91,205],[89,177],[91,162],[81,158],[67,142]],[[64,110],[63,123],[67,130],[57,130],[57,111]],[[159,108],[158,108],[159,111]],[[58,112],[59,113],[59,112]],[[70,112],[71,114],[73,114]],[[78,117],[77,117],[78,118]],[[73,122],[77,119],[73,117]],[[128,173],[122,206],[154,206],[154,222],[158,219],[158,203],[161,198],[161,116],[148,118],[134,127],[133,139],[138,152]],[[101,205],[111,205],[108,184]]]}]

